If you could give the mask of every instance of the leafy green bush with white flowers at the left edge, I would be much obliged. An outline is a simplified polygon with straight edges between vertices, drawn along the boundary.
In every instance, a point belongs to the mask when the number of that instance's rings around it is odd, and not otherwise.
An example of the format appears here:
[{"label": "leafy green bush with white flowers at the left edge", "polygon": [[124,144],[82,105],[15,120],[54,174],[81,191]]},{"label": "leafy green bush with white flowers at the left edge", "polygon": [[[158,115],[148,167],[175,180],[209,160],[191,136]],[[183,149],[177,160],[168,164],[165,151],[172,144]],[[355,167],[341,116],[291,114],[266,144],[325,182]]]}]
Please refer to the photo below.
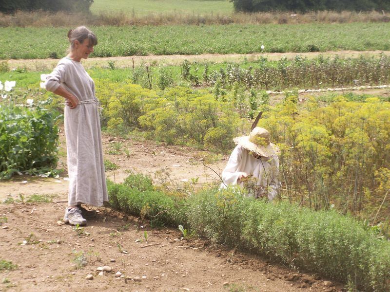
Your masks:
[{"label": "leafy green bush with white flowers at the left edge", "polygon": [[[8,102],[8,104],[7,104]],[[15,172],[52,173],[57,165],[58,128],[52,111],[36,106],[13,105],[3,100],[0,108],[0,178]]]}]

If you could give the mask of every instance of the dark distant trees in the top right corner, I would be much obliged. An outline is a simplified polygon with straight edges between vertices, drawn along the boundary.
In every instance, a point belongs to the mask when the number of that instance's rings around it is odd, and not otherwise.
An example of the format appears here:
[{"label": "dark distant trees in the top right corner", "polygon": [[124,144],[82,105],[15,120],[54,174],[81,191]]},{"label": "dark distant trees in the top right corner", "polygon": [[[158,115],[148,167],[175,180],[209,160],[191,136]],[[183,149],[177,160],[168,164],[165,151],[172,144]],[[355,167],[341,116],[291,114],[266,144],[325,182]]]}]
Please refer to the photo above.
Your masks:
[{"label": "dark distant trees in the top right corner", "polygon": [[390,10],[390,0],[230,0],[236,11]]}]

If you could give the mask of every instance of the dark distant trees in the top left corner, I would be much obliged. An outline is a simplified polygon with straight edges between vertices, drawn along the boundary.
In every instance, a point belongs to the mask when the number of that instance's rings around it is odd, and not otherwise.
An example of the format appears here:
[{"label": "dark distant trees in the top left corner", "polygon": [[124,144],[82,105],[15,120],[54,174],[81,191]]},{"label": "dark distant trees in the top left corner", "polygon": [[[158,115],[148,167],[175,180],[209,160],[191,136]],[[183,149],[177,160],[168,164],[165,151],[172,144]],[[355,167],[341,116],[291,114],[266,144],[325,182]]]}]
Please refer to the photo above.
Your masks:
[{"label": "dark distant trees in the top left corner", "polygon": [[1,0],[0,11],[13,13],[21,11],[78,11],[89,12],[94,0]]}]

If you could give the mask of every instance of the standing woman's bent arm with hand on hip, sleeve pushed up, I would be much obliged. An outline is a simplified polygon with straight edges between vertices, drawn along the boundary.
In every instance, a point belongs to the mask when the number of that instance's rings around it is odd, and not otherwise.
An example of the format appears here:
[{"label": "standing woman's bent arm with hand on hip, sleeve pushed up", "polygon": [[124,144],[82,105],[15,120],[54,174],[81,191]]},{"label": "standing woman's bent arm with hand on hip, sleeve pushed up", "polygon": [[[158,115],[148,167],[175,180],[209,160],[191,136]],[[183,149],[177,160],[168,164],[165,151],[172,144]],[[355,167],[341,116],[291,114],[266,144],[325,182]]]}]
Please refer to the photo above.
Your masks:
[{"label": "standing woman's bent arm with hand on hip, sleeve pushed up", "polygon": [[66,104],[71,108],[75,109],[78,105],[78,99],[71,92],[67,91],[62,85],[62,82],[66,80],[66,71],[65,65],[59,64],[50,73],[45,80],[46,90],[52,91],[55,94],[58,94],[66,99]]}]

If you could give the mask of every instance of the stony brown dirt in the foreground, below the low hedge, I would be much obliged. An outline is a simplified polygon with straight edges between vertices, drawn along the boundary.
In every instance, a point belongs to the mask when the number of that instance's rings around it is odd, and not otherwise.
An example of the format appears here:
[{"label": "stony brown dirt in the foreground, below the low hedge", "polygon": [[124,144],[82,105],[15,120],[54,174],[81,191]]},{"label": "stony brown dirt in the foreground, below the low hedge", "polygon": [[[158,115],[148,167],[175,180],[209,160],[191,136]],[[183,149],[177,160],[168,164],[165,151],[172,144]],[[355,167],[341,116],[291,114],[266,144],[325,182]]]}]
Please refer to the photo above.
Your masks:
[{"label": "stony brown dirt in the foreground, below the low hedge", "polygon": [[[197,239],[180,240],[177,230],[152,229],[147,222],[110,209],[98,210],[88,226],[78,230],[58,225],[63,207],[56,203],[0,205],[0,215],[8,220],[0,229],[0,258],[18,265],[16,270],[2,272],[0,291],[341,289],[234,249]],[[112,272],[98,275],[97,268],[105,265]],[[117,272],[123,277],[117,278]],[[94,279],[87,280],[87,274]]]}]

